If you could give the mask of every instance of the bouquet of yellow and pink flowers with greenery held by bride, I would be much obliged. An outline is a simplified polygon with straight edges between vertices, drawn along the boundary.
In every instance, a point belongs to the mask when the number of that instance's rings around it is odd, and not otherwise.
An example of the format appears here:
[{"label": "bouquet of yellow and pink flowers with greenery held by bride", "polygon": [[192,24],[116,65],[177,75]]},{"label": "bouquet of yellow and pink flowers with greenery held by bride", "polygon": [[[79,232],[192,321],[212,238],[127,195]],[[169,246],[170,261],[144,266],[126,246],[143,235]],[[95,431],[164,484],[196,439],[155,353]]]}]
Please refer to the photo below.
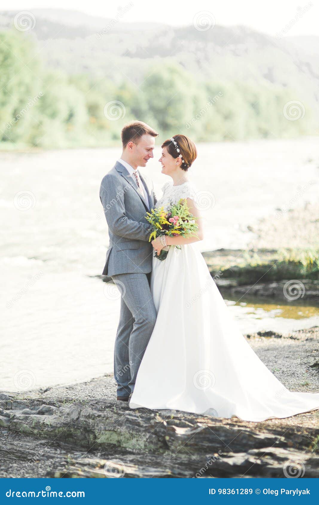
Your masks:
[{"label": "bouquet of yellow and pink flowers with greenery held by bride", "polygon": [[[145,218],[153,225],[149,242],[152,238],[155,239],[159,235],[170,235],[173,237],[181,235],[182,237],[187,237],[198,230],[196,218],[190,213],[187,201],[183,200],[183,198],[180,198],[177,204],[171,204],[167,211],[164,211],[163,207],[151,209],[151,212],[148,212]],[[169,247],[169,245],[163,247],[159,255],[155,251],[154,257],[160,261],[165,260]],[[179,245],[175,245],[174,247],[180,249]]]}]

